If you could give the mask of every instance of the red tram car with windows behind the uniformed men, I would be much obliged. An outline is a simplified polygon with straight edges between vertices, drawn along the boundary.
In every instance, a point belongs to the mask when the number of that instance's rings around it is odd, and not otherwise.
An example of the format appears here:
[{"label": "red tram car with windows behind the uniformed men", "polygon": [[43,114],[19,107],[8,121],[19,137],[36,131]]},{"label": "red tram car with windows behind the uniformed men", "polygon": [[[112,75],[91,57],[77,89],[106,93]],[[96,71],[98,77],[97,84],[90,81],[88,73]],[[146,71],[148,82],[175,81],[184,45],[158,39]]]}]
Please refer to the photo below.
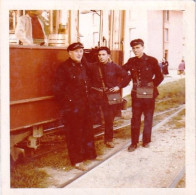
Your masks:
[{"label": "red tram car with windows behind the uniformed men", "polygon": [[[24,140],[36,149],[46,132],[62,129],[52,83],[58,65],[68,58],[66,48],[80,41],[89,62],[97,47],[108,46],[112,59],[123,62],[124,11],[43,10],[41,19],[48,37],[47,46],[20,45],[15,37],[18,17],[26,10],[10,10],[10,147]],[[120,30],[119,30],[120,29]]]}]

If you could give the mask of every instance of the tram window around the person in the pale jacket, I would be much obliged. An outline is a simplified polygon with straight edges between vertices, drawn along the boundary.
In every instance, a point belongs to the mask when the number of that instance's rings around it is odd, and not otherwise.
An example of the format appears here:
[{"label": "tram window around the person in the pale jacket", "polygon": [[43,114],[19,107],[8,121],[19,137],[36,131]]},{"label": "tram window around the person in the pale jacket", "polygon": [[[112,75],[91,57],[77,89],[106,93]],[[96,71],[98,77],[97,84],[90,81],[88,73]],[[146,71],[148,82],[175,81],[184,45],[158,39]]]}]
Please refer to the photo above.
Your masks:
[{"label": "tram window around the person in the pale jacket", "polygon": [[[32,11],[32,10],[30,10]],[[39,20],[44,27],[45,38],[48,46],[67,46],[70,42],[69,36],[69,10],[40,10]],[[28,13],[28,10],[10,10],[9,28],[10,44],[19,44],[15,36],[18,18]],[[31,45],[31,44],[27,44]]]}]

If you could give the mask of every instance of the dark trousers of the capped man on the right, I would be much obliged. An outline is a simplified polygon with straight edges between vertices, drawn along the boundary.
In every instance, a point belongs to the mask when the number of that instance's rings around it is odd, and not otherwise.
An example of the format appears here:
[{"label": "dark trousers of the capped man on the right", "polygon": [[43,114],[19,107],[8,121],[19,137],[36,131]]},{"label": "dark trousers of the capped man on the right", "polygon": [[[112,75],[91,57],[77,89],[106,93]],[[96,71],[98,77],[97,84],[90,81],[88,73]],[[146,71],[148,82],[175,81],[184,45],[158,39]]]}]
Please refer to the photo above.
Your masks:
[{"label": "dark trousers of the capped man on the right", "polygon": [[144,129],[142,141],[151,142],[152,122],[155,108],[154,98],[132,98],[131,140],[132,144],[139,142],[141,115],[144,114]]}]

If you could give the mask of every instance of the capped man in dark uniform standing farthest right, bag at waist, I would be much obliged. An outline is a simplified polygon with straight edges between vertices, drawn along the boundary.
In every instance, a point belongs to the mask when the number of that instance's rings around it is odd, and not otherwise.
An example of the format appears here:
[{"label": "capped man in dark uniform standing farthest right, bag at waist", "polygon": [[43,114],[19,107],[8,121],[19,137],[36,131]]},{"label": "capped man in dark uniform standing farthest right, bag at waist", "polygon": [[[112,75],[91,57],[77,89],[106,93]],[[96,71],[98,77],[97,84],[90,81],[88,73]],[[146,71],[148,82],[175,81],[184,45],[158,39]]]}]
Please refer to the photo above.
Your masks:
[{"label": "capped man in dark uniform standing farthest right, bag at waist", "polygon": [[[137,148],[139,142],[141,115],[144,114],[143,147],[148,147],[151,142],[151,131],[155,98],[158,95],[157,86],[163,81],[163,75],[157,59],[146,55],[142,39],[135,39],[130,43],[135,57],[130,58],[123,68],[128,71],[133,80],[132,96],[132,119],[131,119],[131,141],[128,151],[132,152]],[[151,86],[153,95],[151,98],[137,96],[139,86]]]}]

